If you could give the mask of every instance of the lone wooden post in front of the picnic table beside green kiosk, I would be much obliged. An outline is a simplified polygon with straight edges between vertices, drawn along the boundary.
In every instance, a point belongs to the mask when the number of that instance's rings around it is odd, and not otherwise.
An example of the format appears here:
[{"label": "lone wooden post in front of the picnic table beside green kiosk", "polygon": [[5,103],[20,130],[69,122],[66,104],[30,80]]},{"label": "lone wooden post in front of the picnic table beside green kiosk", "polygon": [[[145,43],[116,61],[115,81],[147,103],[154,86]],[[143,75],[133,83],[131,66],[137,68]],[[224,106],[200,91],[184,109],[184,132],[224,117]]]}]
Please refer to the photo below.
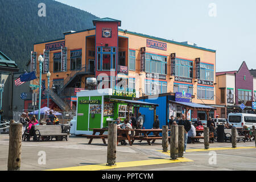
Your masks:
[{"label": "lone wooden post in front of the picnic table beside green kiosk", "polygon": [[117,125],[110,123],[108,127],[108,156],[106,166],[115,165],[117,153]]}]

